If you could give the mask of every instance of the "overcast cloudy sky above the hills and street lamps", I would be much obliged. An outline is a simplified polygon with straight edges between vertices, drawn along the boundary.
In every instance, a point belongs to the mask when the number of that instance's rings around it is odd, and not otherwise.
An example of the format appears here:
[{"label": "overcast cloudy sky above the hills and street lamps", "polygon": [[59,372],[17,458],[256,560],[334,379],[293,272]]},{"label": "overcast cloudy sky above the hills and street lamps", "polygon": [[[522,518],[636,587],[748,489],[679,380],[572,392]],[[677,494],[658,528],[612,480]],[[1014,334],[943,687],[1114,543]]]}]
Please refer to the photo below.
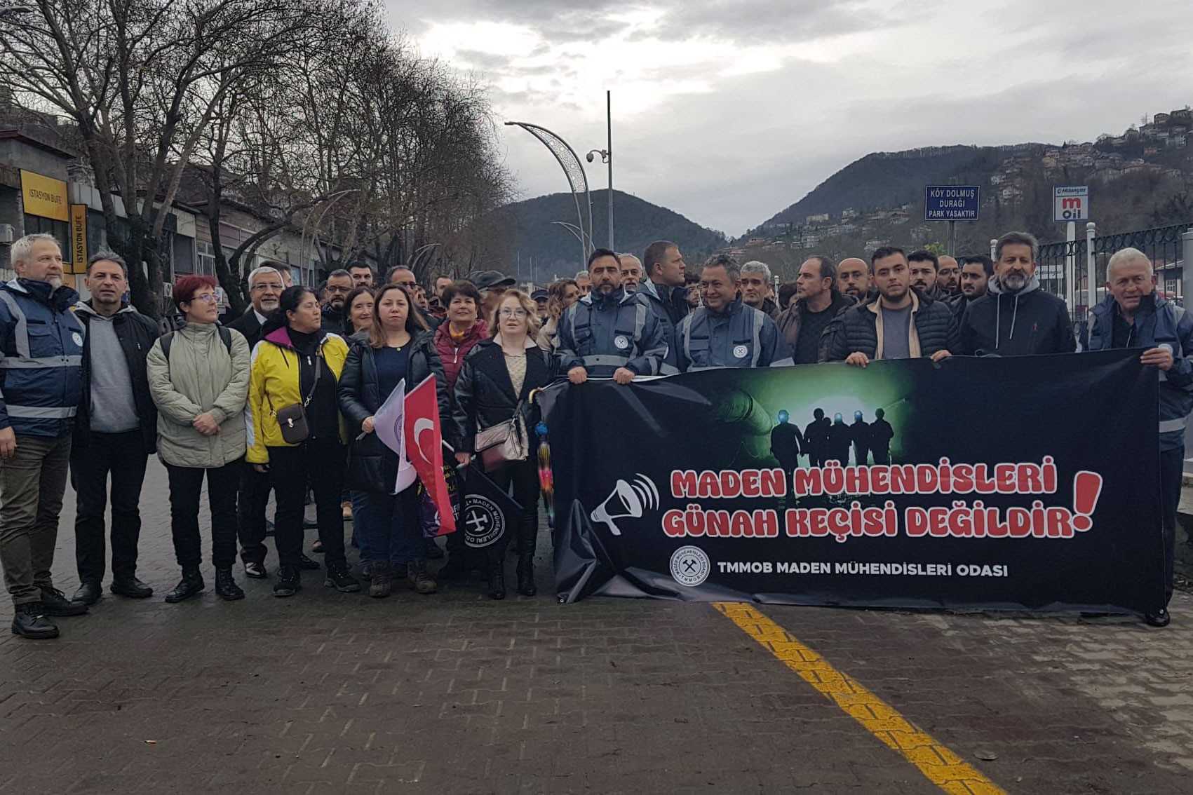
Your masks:
[{"label": "overcast cloudy sky above the hills and street lamps", "polygon": [[[870,151],[1092,141],[1193,103],[1188,0],[385,2],[501,120],[581,157],[612,89],[614,187],[733,235]],[[540,143],[500,135],[523,198],[563,190]]]}]

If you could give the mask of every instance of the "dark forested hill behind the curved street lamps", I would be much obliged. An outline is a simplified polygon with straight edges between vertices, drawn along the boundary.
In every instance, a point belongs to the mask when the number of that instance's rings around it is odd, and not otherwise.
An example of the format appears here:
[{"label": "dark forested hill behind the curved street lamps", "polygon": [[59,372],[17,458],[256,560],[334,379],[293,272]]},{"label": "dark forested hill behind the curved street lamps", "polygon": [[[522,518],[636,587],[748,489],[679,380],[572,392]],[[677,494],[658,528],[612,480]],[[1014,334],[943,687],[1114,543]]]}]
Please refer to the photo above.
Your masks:
[{"label": "dark forested hill behind the curved street lamps", "polygon": [[[592,192],[593,242],[596,247],[608,244],[606,197],[606,191]],[[580,198],[587,223],[583,197],[571,193],[551,193],[517,201],[494,213],[503,226],[502,235],[509,241],[511,273],[517,272],[521,279],[533,278],[542,284],[556,275],[571,275],[581,269],[580,242],[568,229],[552,223],[576,224],[576,198]],[[724,234],[622,191],[613,191],[613,223],[617,250],[638,256],[656,240],[674,241],[685,254],[701,256],[727,244]]]}]

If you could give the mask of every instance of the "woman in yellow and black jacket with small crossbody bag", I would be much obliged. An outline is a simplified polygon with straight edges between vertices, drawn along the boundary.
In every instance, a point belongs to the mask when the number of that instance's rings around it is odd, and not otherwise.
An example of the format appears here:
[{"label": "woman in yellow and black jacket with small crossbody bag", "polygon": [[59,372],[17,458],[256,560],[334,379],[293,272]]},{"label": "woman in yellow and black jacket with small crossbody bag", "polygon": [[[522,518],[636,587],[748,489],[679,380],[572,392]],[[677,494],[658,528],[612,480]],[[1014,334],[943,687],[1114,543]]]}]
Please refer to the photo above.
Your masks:
[{"label": "woman in yellow and black jacket with small crossbody bag", "polygon": [[[302,513],[308,482],[315,492],[319,540],[323,545],[327,577],[323,585],[339,591],[359,591],[344,555],[344,443],[347,439],[336,400],[336,387],[347,343],[322,328],[315,293],[289,287],[278,309],[261,327],[261,341],[253,349],[248,385],[247,460],[273,479],[278,511],[273,540],[278,547],[278,583],[274,596],[293,596],[299,588]],[[288,442],[277,412],[303,405],[307,435]]]}]

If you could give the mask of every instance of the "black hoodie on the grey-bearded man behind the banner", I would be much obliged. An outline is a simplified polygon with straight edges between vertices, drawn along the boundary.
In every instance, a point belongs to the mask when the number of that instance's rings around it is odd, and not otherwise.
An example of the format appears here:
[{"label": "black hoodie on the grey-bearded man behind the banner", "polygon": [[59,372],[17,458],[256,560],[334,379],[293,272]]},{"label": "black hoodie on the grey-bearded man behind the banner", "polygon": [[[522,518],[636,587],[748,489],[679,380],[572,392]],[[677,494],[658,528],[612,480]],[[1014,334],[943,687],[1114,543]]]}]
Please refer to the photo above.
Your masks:
[{"label": "black hoodie on the grey-bearded man behind the banner", "polygon": [[1028,356],[1074,353],[1077,343],[1064,302],[1040,291],[1034,275],[1019,292],[1007,292],[999,278],[989,292],[965,308],[962,353],[972,356]]}]

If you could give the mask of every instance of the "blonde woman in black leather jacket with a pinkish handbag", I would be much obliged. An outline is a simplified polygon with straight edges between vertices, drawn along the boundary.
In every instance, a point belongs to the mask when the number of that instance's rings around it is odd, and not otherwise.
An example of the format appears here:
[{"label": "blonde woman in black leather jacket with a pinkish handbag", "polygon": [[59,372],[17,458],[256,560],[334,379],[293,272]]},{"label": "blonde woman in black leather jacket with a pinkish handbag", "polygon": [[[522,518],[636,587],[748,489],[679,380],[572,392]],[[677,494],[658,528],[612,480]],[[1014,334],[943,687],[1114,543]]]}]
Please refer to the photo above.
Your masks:
[{"label": "blonde woman in black leather jacket with a pinkish handbag", "polygon": [[[506,291],[495,312],[495,334],[481,342],[464,359],[456,379],[452,424],[456,459],[464,465],[476,452],[476,434],[506,422],[520,412],[528,452],[520,461],[505,462],[489,472],[501,489],[513,483],[514,499],[523,507],[518,533],[518,592],[534,595],[534,545],[538,538],[538,461],[536,454],[530,393],[546,386],[555,377],[555,358],[538,347],[538,317],[534,302],[524,292]],[[509,546],[506,533],[487,548],[489,596],[505,598],[505,557]]]}]

